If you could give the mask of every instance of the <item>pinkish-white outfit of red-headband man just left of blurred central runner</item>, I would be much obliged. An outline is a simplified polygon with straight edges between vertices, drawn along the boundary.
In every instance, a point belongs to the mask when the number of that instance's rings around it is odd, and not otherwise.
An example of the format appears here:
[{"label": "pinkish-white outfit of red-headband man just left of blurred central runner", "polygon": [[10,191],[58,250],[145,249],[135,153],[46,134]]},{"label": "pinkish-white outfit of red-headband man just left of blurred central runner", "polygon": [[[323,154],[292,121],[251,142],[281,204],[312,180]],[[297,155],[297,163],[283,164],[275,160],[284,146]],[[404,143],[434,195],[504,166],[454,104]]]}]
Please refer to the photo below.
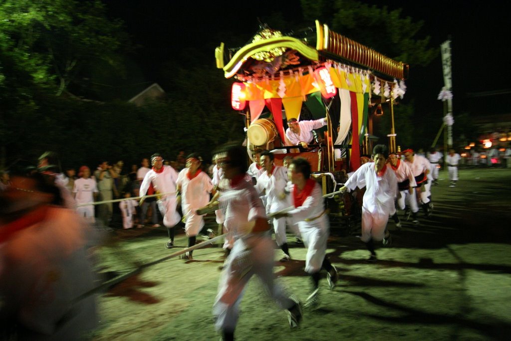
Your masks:
[{"label": "pinkish-white outfit of red-headband man just left of blurred central runner", "polygon": [[181,187],[181,210],[186,218],[184,231],[188,237],[197,236],[204,226],[204,219],[195,212],[210,202],[213,184],[210,177],[198,171],[193,179],[188,178],[189,168],[184,168],[177,177],[177,186]]}]

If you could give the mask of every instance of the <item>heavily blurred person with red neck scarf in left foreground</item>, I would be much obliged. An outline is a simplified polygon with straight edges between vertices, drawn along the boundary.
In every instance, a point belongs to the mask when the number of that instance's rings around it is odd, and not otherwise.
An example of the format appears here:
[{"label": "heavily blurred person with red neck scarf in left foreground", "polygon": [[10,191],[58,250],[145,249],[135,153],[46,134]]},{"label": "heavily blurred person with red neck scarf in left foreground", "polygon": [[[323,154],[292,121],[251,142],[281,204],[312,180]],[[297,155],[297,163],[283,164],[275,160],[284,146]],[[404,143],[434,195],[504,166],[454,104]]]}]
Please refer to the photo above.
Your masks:
[{"label": "heavily blurred person with red neck scarf in left foreground", "polygon": [[[87,225],[57,206],[52,177],[13,176],[0,195],[0,335],[76,340],[97,323]],[[80,299],[78,299],[80,298]]]}]

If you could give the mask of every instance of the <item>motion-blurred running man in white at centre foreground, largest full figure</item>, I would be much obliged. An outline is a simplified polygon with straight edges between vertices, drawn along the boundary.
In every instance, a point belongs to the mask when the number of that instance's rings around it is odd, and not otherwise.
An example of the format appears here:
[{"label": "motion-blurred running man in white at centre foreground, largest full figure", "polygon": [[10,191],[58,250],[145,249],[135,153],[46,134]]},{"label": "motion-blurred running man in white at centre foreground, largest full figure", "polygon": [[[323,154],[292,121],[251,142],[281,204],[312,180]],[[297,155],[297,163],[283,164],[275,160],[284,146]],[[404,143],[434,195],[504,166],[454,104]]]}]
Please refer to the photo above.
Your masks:
[{"label": "motion-blurred running man in white at centre foreground, largest full figure", "polygon": [[301,321],[298,301],[288,297],[274,282],[274,243],[269,235],[263,203],[252,184],[245,181],[246,150],[241,146],[225,149],[220,164],[230,187],[220,196],[216,207],[225,208],[225,226],[235,242],[222,271],[213,305],[215,327],[222,333],[223,340],[234,340],[241,298],[252,275],[257,275],[275,303],[287,310],[289,325],[297,327]]}]

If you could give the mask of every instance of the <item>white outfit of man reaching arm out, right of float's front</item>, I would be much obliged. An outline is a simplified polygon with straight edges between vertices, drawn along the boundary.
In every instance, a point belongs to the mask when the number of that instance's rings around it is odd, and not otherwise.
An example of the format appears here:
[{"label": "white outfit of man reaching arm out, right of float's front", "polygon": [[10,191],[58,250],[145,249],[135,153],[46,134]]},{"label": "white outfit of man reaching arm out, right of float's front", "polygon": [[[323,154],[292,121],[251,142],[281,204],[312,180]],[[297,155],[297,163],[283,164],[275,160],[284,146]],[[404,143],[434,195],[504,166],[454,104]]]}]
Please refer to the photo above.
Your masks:
[{"label": "white outfit of man reaching arm out, right of float's front", "polygon": [[[375,164],[368,162],[348,178],[344,186],[350,190],[365,186],[362,200],[362,237],[363,242],[371,238],[380,241],[385,236],[385,228],[390,213],[395,210],[394,199],[398,192],[396,174],[387,167],[382,176],[378,176]],[[364,181],[365,180],[365,181]]]}]

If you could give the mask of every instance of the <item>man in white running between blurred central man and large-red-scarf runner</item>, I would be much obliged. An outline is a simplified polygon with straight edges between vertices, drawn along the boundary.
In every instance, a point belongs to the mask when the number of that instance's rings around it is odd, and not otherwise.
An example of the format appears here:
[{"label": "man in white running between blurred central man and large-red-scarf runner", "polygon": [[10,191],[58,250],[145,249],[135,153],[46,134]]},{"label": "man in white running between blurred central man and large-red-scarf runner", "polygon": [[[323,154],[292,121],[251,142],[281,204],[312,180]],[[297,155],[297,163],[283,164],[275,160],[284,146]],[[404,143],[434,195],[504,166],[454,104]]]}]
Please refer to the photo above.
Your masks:
[{"label": "man in white running between blurred central man and large-red-scarf runner", "polygon": [[[290,206],[285,189],[287,185],[287,169],[273,164],[274,155],[265,150],[261,153],[261,164],[264,172],[259,176],[255,189],[265,192],[266,213],[271,214]],[[264,186],[264,187],[263,187]],[[264,202],[264,200],[263,200]],[[271,218],[275,231],[275,241],[284,253],[281,262],[291,259],[286,237],[286,218]]]}]

